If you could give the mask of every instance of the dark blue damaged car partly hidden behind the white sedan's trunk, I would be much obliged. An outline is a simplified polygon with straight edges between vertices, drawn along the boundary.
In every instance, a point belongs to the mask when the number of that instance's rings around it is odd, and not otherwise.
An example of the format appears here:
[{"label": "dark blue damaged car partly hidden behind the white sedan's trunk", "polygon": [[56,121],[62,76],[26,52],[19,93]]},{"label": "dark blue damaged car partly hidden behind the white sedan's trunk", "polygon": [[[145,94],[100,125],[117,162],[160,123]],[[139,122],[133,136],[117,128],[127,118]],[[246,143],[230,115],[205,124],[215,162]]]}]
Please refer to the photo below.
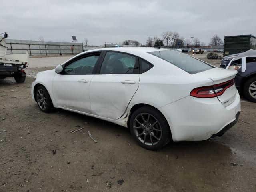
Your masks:
[{"label": "dark blue damaged car partly hidden behind the white sedan's trunk", "polygon": [[[242,58],[245,69],[242,69]],[[256,50],[233,54],[222,59],[221,68],[237,70],[236,88],[251,102],[256,102]]]}]

